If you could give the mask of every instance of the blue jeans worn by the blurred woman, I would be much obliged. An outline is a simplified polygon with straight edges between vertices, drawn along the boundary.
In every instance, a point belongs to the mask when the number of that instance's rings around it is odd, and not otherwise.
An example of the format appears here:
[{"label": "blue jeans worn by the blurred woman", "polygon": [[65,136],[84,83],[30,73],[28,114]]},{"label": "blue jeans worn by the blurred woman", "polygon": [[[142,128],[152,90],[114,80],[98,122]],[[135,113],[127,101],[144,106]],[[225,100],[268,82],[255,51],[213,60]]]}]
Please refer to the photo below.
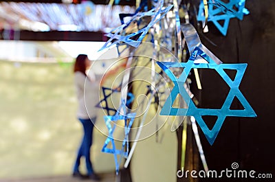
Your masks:
[{"label": "blue jeans worn by the blurred woman", "polygon": [[80,119],[80,122],[83,124],[84,129],[84,136],[82,143],[80,145],[80,148],[78,149],[78,155],[76,157],[76,163],[74,165],[74,172],[79,172],[79,166],[80,166],[80,158],[85,157],[86,161],[86,167],[87,167],[87,174],[94,173],[93,166],[91,165],[91,159],[90,159],[90,149],[92,144],[92,138],[93,138],[93,129],[94,129],[94,123],[96,122],[96,117],[91,118],[93,122],[91,122],[90,119]]}]

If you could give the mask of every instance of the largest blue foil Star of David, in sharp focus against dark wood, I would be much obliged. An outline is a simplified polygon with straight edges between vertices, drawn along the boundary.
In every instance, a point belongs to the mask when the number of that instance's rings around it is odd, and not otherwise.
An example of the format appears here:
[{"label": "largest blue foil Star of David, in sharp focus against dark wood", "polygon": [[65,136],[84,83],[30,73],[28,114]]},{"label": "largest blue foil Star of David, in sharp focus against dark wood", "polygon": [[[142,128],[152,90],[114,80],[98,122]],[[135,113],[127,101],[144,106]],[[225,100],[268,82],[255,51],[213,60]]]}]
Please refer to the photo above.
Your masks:
[{"label": "largest blue foil Star of David, in sharp focus against dark wood", "polygon": [[[203,58],[208,63],[195,63],[195,60]],[[193,116],[197,120],[197,123],[201,127],[204,135],[206,135],[206,139],[210,145],[214,143],[219,130],[227,116],[235,116],[235,117],[256,117],[256,113],[245,99],[241,91],[239,90],[239,85],[241,83],[241,79],[243,78],[243,74],[247,67],[247,64],[220,64],[218,65],[214,60],[212,60],[205,52],[203,52],[198,47],[195,47],[192,55],[190,56],[188,62],[157,62],[159,67],[161,67],[165,73],[169,76],[169,78],[175,84],[175,87],[170,92],[166,102],[164,103],[164,107],[160,112],[160,115],[188,115]],[[184,68],[184,71],[181,73],[181,76],[177,78],[172,71],[170,71],[170,67],[181,67]],[[216,70],[221,78],[228,84],[230,87],[230,91],[228,93],[225,102],[221,109],[198,109],[195,106],[194,102],[190,99],[186,89],[184,89],[184,82],[188,76],[188,73],[191,69],[194,68],[204,68],[204,69],[214,69]],[[227,73],[225,73],[224,69],[233,69],[236,70],[236,76],[234,80],[232,80]],[[173,108],[173,102],[175,101],[177,94],[180,94],[184,101],[188,103],[188,109],[178,109]],[[241,104],[243,104],[243,110],[232,110],[230,109],[230,105],[234,98],[239,99]],[[217,115],[217,122],[214,124],[212,130],[208,128],[206,123],[203,121],[203,115]]]}]

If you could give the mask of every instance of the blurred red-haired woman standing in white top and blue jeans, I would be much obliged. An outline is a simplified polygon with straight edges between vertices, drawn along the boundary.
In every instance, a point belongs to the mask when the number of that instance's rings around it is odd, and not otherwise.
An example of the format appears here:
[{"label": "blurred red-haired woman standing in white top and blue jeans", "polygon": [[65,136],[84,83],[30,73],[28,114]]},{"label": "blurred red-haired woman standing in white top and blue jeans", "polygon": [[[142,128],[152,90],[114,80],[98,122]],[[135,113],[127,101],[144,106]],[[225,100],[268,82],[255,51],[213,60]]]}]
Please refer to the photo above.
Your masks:
[{"label": "blurred red-haired woman standing in white top and blue jeans", "polygon": [[[78,120],[83,124],[84,135],[76,163],[74,165],[73,177],[80,177],[82,179],[99,180],[95,174],[90,159],[90,148],[92,144],[94,122],[96,122],[95,105],[99,98],[99,81],[95,76],[87,76],[86,70],[91,66],[91,60],[85,54],[80,54],[76,58],[74,64],[74,81],[76,85],[76,94],[78,98]],[[79,171],[80,158],[85,157],[87,175],[81,174]]]}]

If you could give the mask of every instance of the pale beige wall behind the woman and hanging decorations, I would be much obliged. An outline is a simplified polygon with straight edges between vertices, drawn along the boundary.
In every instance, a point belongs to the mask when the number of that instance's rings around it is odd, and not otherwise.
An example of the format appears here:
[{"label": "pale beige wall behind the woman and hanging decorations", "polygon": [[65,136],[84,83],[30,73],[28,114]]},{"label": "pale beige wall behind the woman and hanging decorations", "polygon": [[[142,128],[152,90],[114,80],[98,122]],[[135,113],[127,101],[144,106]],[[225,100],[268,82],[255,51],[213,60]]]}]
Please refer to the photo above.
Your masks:
[{"label": "pale beige wall behind the woman and hanging decorations", "polygon": [[[71,174],[82,137],[71,65],[1,60],[0,69],[0,178]],[[97,125],[107,133],[102,115]],[[175,181],[176,135],[168,125],[158,135],[159,142],[155,135],[138,142],[131,160],[134,182]],[[91,155],[97,172],[115,169],[113,155],[100,152],[105,139],[95,130]]]}]

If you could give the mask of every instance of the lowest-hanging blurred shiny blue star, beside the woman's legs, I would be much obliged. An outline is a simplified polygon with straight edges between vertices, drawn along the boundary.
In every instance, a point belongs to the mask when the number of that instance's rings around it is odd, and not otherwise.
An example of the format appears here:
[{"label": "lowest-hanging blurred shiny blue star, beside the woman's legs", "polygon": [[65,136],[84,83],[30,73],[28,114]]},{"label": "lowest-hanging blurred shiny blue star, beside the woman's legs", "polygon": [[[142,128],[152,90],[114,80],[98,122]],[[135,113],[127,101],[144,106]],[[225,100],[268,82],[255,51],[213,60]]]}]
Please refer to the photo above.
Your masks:
[{"label": "lowest-hanging blurred shiny blue star, beside the woman's legs", "polygon": [[[126,109],[124,108],[124,111]],[[133,121],[135,119],[135,113],[127,113],[126,115],[121,115],[119,110],[115,115],[105,115],[104,116],[104,121],[105,124],[108,128],[109,135],[107,139],[104,142],[104,146],[102,147],[102,152],[107,152],[113,154],[113,157],[115,159],[115,172],[118,174],[119,168],[120,168],[120,163],[122,160],[122,157],[127,158],[128,153],[129,153],[129,132],[131,129],[131,126],[133,124]],[[113,139],[113,132],[116,127],[116,122],[118,120],[124,120],[124,139],[122,141],[122,148],[120,150],[115,148],[115,141]],[[127,124],[127,122],[129,123]],[[111,122],[113,122],[113,126],[111,126]],[[112,148],[107,148],[108,144],[111,142]],[[126,146],[126,151],[125,151],[125,146]],[[120,155],[120,160],[118,161],[118,156]]]}]

